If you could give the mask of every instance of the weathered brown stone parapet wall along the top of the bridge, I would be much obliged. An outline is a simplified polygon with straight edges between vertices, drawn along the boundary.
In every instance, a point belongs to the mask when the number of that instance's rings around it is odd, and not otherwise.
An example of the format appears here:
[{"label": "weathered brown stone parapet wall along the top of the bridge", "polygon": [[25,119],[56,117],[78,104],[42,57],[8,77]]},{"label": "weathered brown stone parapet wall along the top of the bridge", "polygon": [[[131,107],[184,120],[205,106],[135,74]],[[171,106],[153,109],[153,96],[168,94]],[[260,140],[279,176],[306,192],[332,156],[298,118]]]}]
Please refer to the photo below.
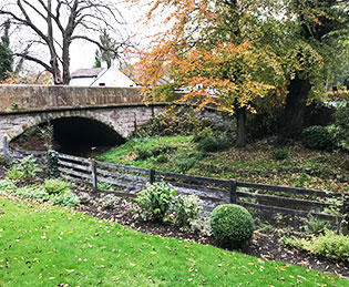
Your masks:
[{"label": "weathered brown stone parapet wall along the top of the bridge", "polygon": [[0,112],[142,103],[135,88],[0,85]]}]

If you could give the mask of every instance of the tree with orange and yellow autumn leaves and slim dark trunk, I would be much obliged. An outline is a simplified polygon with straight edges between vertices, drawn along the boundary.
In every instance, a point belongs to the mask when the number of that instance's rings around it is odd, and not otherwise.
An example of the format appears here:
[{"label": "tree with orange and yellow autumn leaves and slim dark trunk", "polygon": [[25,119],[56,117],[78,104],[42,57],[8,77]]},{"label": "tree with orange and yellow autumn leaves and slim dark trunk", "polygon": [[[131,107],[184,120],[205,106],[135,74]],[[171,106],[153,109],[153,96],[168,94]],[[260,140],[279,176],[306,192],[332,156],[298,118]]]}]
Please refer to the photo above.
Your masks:
[{"label": "tree with orange and yellow autumn leaves and slim dark trunk", "polygon": [[[137,0],[130,0],[138,2]],[[142,1],[143,2],[143,1]],[[203,110],[216,106],[236,116],[237,146],[246,144],[246,112],[255,113],[254,100],[277,93],[283,71],[276,55],[248,30],[254,1],[157,0],[170,28],[134,66],[147,102],[167,101],[175,89],[186,92],[174,104]],[[252,2],[254,4],[252,4]],[[165,83],[158,85],[158,80]]]}]

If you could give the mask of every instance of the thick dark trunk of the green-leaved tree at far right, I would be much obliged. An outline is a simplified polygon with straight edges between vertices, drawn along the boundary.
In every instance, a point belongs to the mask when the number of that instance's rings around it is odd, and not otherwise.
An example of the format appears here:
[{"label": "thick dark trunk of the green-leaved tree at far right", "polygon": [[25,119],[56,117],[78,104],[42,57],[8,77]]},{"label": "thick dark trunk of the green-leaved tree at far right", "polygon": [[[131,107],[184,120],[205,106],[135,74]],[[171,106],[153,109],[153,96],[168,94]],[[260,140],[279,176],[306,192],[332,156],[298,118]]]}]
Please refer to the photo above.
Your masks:
[{"label": "thick dark trunk of the green-leaved tree at far right", "polygon": [[300,79],[298,75],[290,81],[286,98],[286,133],[290,137],[300,135],[304,127],[306,103],[311,90],[309,79]]}]

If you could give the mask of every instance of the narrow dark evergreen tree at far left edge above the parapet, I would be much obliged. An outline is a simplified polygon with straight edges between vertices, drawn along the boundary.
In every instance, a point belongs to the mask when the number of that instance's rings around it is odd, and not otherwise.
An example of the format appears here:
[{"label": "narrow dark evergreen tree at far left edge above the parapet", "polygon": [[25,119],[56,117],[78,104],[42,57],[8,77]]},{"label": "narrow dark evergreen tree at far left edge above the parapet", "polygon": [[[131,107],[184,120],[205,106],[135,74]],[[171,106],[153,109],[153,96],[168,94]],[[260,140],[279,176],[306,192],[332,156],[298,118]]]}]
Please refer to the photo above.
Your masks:
[{"label": "narrow dark evergreen tree at far left edge above the parapet", "polygon": [[1,37],[0,43],[0,81],[3,81],[8,78],[8,74],[12,72],[12,63],[13,63],[13,55],[10,49],[10,22],[6,21],[4,24],[4,32]]}]

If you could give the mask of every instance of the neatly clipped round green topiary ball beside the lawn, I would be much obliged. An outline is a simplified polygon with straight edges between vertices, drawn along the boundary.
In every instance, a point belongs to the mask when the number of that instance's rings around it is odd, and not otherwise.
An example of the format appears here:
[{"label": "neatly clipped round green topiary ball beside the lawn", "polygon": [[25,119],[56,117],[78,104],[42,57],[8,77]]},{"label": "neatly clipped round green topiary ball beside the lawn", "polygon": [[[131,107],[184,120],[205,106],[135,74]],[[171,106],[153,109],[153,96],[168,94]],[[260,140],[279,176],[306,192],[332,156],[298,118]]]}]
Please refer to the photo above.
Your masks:
[{"label": "neatly clipped round green topiary ball beside the lawn", "polygon": [[211,228],[214,237],[222,243],[243,243],[249,239],[255,229],[249,212],[236,204],[224,204],[211,214]]}]

